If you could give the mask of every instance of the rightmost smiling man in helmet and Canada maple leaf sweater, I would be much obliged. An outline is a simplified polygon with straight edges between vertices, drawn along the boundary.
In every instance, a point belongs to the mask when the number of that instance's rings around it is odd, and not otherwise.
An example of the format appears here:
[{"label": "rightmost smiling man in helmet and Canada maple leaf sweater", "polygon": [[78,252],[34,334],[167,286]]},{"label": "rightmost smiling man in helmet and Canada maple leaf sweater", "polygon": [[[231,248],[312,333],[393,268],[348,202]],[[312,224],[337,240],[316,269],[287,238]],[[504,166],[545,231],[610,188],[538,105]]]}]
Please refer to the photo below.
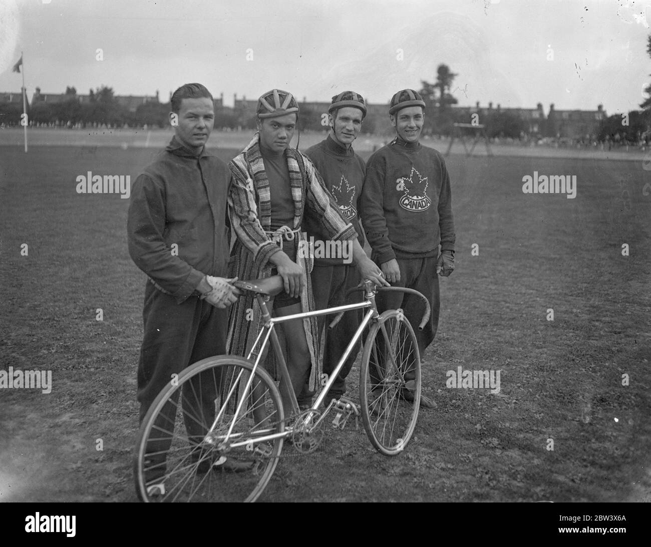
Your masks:
[{"label": "rightmost smiling man in helmet and Canada maple leaf sweater", "polygon": [[[454,221],[450,177],[441,154],[419,142],[425,103],[405,89],[393,95],[389,119],[396,138],[367,162],[361,213],[372,259],[393,286],[418,290],[430,302],[428,324],[418,331],[419,298],[400,292],[378,294],[378,308],[402,308],[413,326],[421,359],[439,322],[438,275],[454,270]],[[439,254],[439,246],[441,252]],[[409,394],[407,394],[409,396]],[[434,407],[428,398],[421,405]]]}]

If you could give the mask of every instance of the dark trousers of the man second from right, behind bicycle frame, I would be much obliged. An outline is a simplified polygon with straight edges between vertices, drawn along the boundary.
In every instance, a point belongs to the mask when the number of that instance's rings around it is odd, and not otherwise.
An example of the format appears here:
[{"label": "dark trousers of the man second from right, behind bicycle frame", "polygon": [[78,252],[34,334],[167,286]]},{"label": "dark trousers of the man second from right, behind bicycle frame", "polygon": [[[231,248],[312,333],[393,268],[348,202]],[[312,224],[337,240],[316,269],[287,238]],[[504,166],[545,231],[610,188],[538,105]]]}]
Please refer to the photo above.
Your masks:
[{"label": "dark trousers of the man second from right, behind bicycle frame", "polygon": [[[315,309],[324,309],[333,306],[341,306],[355,302],[361,302],[362,293],[353,293],[348,300],[346,300],[346,291],[359,285],[360,277],[357,268],[352,265],[333,265],[333,266],[318,266],[314,265],[312,269],[312,292],[314,293]],[[324,347],[324,361],[323,372],[328,376],[337,367],[339,359],[346,351],[350,340],[352,340],[355,331],[359,327],[363,318],[363,310],[352,310],[344,313],[337,326],[330,330],[328,325],[335,318],[335,315],[320,316],[318,318],[318,329],[320,333],[324,333],[323,347]],[[357,353],[361,348],[361,341],[346,359],[344,366],[337,375],[337,379],[329,390],[326,403],[332,397],[339,397],[346,392],[346,376],[357,358]]]}]

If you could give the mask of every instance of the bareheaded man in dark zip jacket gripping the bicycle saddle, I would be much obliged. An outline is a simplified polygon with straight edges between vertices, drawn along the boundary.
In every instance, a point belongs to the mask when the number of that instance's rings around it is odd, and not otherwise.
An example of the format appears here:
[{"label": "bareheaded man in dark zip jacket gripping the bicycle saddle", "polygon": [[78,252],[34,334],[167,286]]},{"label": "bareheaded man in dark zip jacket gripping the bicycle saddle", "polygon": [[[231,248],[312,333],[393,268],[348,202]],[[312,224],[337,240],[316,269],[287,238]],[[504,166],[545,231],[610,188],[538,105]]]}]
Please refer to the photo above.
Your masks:
[{"label": "bareheaded man in dark zip jacket gripping the bicycle saddle", "polygon": [[[212,95],[201,84],[186,84],[172,95],[171,107],[174,136],[135,180],[127,223],[129,253],[148,276],[138,365],[141,422],[174,375],[226,353],[226,308],[239,294],[226,275],[229,170],[205,149],[214,123]],[[202,411],[210,416],[215,394],[204,395]],[[201,436],[201,424],[186,427],[189,436]],[[161,494],[157,479],[165,473],[166,446],[161,439],[148,449],[162,454],[152,458],[146,477]]]}]

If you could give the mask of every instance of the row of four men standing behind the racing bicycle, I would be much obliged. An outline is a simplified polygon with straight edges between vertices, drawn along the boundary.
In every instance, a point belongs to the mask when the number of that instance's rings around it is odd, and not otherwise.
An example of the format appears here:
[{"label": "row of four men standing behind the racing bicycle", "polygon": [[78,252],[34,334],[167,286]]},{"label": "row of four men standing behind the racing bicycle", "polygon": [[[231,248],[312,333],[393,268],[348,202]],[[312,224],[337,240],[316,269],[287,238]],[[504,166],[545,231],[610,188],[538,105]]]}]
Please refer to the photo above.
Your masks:
[{"label": "row of four men standing behind the racing bicycle", "polygon": [[[340,305],[346,291],[362,279],[415,288],[432,306],[430,322],[416,333],[424,355],[438,324],[437,274],[449,275],[454,269],[455,236],[445,162],[436,150],[419,143],[425,105],[417,92],[402,90],[391,99],[396,138],[370,157],[366,169],[351,145],[367,107],[352,91],[333,97],[330,133],[305,155],[290,147],[299,113],[292,94],[275,89],[262,95],[256,110],[258,133],[230,162],[230,169],[204,148],[214,123],[208,90],[186,84],[174,92],[171,106],[174,138],[135,181],[128,218],[130,255],[148,275],[138,370],[141,420],[171,375],[204,357],[245,355],[251,348],[261,318],[250,296],[238,299],[239,291],[230,285],[235,276],[282,275],[284,293],[273,303],[280,315]],[[228,267],[227,205],[237,236]],[[363,251],[360,219],[372,261]],[[297,251],[303,231],[316,240],[349,242],[355,268],[350,257],[312,262],[312,257],[301,256]],[[380,311],[402,307],[411,324],[419,323],[422,307],[413,296],[380,293],[377,301]],[[225,308],[232,303],[236,307],[227,342]],[[246,316],[249,309],[253,321]],[[326,374],[335,368],[360,316],[347,312],[337,330],[326,335]],[[303,406],[310,405],[320,379],[324,324],[314,318],[287,324],[292,332],[286,337],[288,370]],[[356,353],[329,398],[344,394]],[[433,405],[426,398],[421,401]],[[288,405],[284,395],[283,403]],[[158,448],[162,474],[165,446]]]}]

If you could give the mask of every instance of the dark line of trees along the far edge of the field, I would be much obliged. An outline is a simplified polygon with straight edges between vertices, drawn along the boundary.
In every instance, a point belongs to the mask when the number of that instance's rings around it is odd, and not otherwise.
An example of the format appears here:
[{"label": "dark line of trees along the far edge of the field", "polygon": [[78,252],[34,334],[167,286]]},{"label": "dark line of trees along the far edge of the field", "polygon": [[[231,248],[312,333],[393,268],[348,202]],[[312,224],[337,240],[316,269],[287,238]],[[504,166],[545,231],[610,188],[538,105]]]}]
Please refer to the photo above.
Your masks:
[{"label": "dark line of trees along the far edge of the field", "polygon": [[[647,53],[651,56],[651,36],[648,37]],[[422,80],[419,93],[426,104],[423,133],[449,136],[455,131],[454,123],[471,123],[469,114],[453,106],[458,103],[451,89],[454,78],[449,66],[437,67],[436,80],[432,83]],[[634,143],[648,141],[651,112],[651,84],[646,88],[649,98],[640,106],[642,110],[632,110],[628,114],[613,114],[604,118],[593,138],[599,141]],[[89,100],[80,101],[76,88],[66,88],[65,99],[56,103],[33,101],[28,107],[30,125],[57,125],[67,127],[168,127],[170,103],[149,101],[139,105],[135,112],[121,105],[113,93],[113,88],[101,86],[90,90]],[[23,113],[22,103],[0,103],[0,123],[19,125]],[[301,108],[298,127],[301,131],[323,131],[324,112],[309,105]],[[485,125],[489,138],[529,138],[540,136],[555,137],[555,124],[551,120],[536,120],[538,132],[530,134],[527,121],[508,110],[484,112],[480,120]],[[235,108],[215,108],[215,127],[219,129],[255,129],[255,112],[238,105]],[[369,112],[364,120],[363,133],[391,136],[393,127],[387,114]]]}]

